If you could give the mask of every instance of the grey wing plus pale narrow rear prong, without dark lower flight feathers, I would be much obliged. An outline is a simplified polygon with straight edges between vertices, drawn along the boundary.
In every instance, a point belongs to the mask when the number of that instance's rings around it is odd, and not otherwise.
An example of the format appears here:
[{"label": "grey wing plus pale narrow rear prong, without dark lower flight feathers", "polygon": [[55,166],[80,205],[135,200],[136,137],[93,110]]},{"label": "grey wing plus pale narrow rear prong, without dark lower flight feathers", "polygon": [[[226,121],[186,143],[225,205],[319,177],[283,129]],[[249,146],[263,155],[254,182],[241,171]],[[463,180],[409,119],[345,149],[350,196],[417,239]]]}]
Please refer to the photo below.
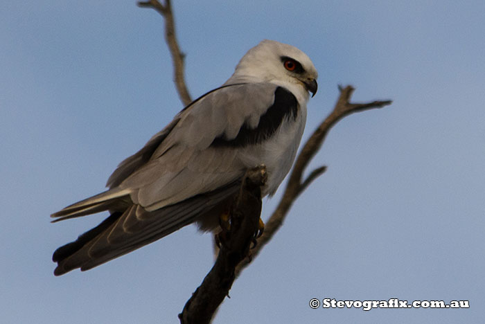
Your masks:
[{"label": "grey wing plus pale narrow rear prong, without dark lower flight feathers", "polygon": [[[211,91],[182,110],[107,181],[109,190],[51,215],[58,220],[139,204],[149,211],[209,192],[248,167],[241,151],[221,141],[240,140],[274,101],[274,84],[233,84]],[[240,137],[240,136],[239,136]],[[252,168],[254,165],[249,165]]]}]

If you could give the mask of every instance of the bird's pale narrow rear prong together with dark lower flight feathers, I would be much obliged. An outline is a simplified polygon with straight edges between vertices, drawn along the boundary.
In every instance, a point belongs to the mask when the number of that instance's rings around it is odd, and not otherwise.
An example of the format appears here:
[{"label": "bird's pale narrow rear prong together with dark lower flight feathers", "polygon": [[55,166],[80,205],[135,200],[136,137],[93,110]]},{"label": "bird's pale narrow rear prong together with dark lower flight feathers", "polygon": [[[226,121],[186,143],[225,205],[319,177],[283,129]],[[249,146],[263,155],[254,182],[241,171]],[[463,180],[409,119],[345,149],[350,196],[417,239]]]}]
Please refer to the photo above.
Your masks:
[{"label": "bird's pale narrow rear prong together with dark lower flight feathers", "polygon": [[115,208],[107,208],[111,215],[101,224],[54,252],[52,260],[58,262],[54,274],[60,276],[77,268],[81,271],[92,269],[155,242],[195,222],[198,217],[220,215],[220,210],[225,210],[226,206],[231,204],[239,190],[238,179],[227,186],[153,211],[145,210],[132,202],[130,206],[123,209],[125,201],[131,201],[130,196],[121,190],[118,192],[110,192],[110,190],[64,208],[53,215],[66,219],[86,215],[93,210],[106,209],[109,204],[115,206]]}]

